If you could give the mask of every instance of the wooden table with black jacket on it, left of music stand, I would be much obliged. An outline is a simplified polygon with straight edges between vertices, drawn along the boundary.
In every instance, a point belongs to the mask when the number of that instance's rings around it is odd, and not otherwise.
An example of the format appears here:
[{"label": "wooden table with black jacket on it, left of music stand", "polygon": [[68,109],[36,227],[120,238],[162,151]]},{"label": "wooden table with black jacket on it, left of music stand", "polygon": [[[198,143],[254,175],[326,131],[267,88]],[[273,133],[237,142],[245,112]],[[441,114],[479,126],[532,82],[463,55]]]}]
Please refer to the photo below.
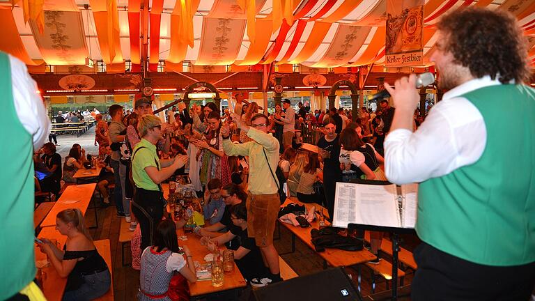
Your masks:
[{"label": "wooden table with black jacket on it, left of music stand", "polygon": [[[288,205],[288,203],[297,203],[298,205],[304,205],[307,208],[307,211],[312,207],[316,206],[318,208],[317,204],[314,203],[301,203],[300,201],[290,200],[286,199],[286,202],[284,202],[283,206]],[[279,223],[283,224],[286,229],[290,230],[292,233],[292,252],[295,252],[295,237],[299,238],[304,242],[305,245],[309,246],[311,249],[315,250],[316,247],[314,247],[312,243],[312,236],[310,231],[312,229],[319,229],[319,221],[316,219],[316,221],[311,222],[311,226],[308,228],[301,228],[300,226],[293,226],[292,224],[286,224],[284,222]],[[329,224],[327,220],[325,220],[325,224]],[[357,265],[360,263],[365,263],[368,261],[371,261],[375,259],[375,256],[371,254],[366,249],[362,249],[361,251],[344,251],[341,249],[331,249],[331,248],[325,248],[324,252],[317,252],[319,256],[321,256],[325,263],[329,263],[329,265],[332,265],[334,267],[339,266],[350,266],[350,265]],[[325,265],[325,268],[327,266]]]}]

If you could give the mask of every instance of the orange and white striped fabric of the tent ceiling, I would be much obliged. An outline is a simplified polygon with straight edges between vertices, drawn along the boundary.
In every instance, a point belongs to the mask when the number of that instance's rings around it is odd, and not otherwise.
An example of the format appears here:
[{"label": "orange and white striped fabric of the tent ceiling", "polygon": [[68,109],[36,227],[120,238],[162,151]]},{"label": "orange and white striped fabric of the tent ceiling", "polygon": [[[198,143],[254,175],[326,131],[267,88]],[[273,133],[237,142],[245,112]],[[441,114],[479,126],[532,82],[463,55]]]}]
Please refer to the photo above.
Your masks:
[{"label": "orange and white striped fabric of the tent ceiling", "polygon": [[[130,34],[135,37],[145,30],[152,34],[146,39],[152,66],[158,59],[173,64],[182,60],[196,65],[275,62],[318,68],[385,61],[387,0],[150,0],[144,21],[139,6],[145,1],[15,0],[12,9],[9,0],[0,0],[0,5],[10,10],[3,10],[6,18],[0,23],[12,31],[15,24],[18,31],[18,35],[8,35],[10,43],[0,43],[0,50],[28,65],[43,60],[48,65],[84,65],[87,56],[107,64],[130,60],[139,65],[144,45]],[[24,22],[20,7],[39,2],[44,2],[43,34],[39,20]],[[524,27],[529,45],[534,46],[535,1],[426,0],[426,65],[431,64],[428,57],[436,40],[434,24],[444,13],[463,6],[509,10]],[[255,26],[249,28],[248,20],[254,20],[255,11]],[[54,39],[54,34],[62,38]],[[344,42],[348,39],[351,43]],[[529,54],[535,61],[535,49]]]}]

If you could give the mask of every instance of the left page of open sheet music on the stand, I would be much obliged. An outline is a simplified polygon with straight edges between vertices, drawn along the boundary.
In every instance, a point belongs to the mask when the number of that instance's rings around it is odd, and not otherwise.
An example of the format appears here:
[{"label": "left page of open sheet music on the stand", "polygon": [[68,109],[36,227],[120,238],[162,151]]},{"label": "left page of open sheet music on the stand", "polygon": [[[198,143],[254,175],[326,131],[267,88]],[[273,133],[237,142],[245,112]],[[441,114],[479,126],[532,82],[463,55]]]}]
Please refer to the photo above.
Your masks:
[{"label": "left page of open sheet music on the stand", "polygon": [[396,185],[336,183],[333,225],[349,223],[375,226],[401,226],[396,201]]}]

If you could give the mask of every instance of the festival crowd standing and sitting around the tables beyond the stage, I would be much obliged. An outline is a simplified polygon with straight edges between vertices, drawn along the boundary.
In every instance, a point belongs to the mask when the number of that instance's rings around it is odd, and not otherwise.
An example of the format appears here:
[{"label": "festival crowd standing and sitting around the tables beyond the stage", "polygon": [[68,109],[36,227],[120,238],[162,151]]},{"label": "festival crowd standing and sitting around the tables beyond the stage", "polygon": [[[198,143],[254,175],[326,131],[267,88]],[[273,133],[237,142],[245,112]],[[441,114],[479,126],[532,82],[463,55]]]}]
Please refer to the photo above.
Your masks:
[{"label": "festival crowd standing and sitting around the tables beyond the stage", "polygon": [[[187,174],[203,198],[206,226],[196,231],[201,242],[210,250],[223,244],[232,249],[251,286],[282,280],[273,246],[279,188],[304,203],[325,206],[332,217],[336,181],[386,179],[381,169],[382,141],[394,114],[387,100],[372,114],[366,107],[359,108],[358,117],[351,121],[351,110],[312,112],[301,102],[294,109],[288,99],[275,105],[272,114],[262,114],[256,102],[245,102],[240,93],[234,97],[233,109],[223,112],[214,102],[189,109],[180,102],[166,111],[166,121],[153,114],[147,98],[138,99],[133,111],[111,105],[109,121],[100,112],[95,115],[97,158],[79,144],[72,145],[63,164],[50,142],[36,153],[36,166],[44,173],[38,179],[40,189],[53,194],[59,194],[61,180],[75,183],[73,176],[84,164],[102,167],[98,192],[103,203],[114,203],[118,217],[135,231],[132,267],[141,270],[140,300],[164,293],[173,271],[195,280],[189,250],[183,250],[186,258],[176,254],[176,237],[171,238],[173,229],[185,226],[186,220],[169,224],[166,219],[161,184],[173,175]],[[311,125],[321,133],[318,153],[300,150],[301,141],[295,135]],[[274,176],[277,169],[281,178]],[[265,175],[272,176],[266,180]],[[371,250],[377,256],[372,262],[378,263],[382,234],[372,233],[371,238]],[[45,245],[49,244],[45,241]],[[164,270],[162,262],[166,262]]]}]

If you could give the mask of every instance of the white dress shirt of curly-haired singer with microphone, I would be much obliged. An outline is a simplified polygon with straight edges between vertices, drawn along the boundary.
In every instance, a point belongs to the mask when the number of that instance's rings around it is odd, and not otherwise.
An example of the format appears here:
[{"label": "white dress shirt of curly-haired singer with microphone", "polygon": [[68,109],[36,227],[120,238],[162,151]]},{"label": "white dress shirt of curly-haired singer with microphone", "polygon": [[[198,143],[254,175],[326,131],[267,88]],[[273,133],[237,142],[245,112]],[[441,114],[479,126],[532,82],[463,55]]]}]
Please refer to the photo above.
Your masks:
[{"label": "white dress shirt of curly-haired singer with microphone", "polygon": [[487,140],[483,116],[459,95],[497,84],[501,83],[489,76],[465,82],[444,93],[416,132],[391,131],[385,139],[388,180],[398,185],[420,183],[479,160]]}]

